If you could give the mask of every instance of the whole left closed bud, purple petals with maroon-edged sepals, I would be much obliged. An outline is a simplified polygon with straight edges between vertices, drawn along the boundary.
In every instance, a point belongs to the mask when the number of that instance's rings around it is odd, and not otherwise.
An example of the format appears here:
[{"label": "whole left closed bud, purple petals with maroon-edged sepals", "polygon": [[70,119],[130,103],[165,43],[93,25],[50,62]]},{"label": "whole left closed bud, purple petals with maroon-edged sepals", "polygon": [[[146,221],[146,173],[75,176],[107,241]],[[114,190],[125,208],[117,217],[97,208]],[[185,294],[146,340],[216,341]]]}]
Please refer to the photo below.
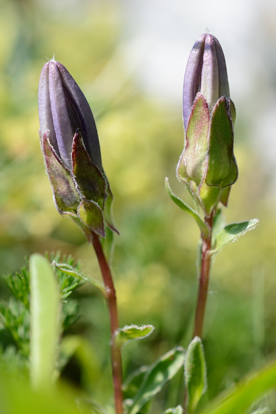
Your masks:
[{"label": "whole left closed bud, purple petals with maroon-edged sepals", "polygon": [[91,241],[91,230],[117,231],[113,195],[102,168],[97,128],[90,106],[73,77],[51,60],[39,80],[41,149],[56,209],[70,217]]}]

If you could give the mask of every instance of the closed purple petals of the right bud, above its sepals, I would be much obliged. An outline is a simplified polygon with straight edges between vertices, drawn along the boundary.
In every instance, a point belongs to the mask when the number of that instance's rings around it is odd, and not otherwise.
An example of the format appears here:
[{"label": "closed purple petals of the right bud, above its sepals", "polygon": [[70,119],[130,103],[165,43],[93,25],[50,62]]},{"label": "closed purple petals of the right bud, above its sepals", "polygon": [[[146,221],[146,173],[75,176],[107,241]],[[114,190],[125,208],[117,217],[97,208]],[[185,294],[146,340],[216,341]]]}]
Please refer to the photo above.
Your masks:
[{"label": "closed purple petals of the right bud, above its sepals", "polygon": [[198,92],[206,99],[210,111],[221,96],[230,97],[223,50],[212,34],[202,34],[189,55],[183,86],[185,131]]}]

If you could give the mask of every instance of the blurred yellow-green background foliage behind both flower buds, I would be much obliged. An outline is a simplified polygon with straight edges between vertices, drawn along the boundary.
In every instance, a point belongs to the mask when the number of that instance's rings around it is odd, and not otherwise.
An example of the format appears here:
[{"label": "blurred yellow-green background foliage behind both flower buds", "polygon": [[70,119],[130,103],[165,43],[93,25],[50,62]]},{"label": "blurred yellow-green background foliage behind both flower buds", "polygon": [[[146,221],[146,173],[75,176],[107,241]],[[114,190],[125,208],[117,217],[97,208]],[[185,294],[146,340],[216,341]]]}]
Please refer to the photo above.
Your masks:
[{"label": "blurred yellow-green background foliage behind both flower buds", "polygon": [[[121,325],[156,327],[151,337],[123,349],[126,378],[175,344],[189,343],[199,230],[164,187],[168,176],[173,190],[191,203],[174,172],[183,149],[181,108],[147,94],[135,74],[124,71],[118,53],[125,18],[122,3],[82,2],[75,10],[47,8],[32,0],[0,2],[0,273],[19,270],[33,252],[61,250],[100,279],[93,249],[54,208],[39,147],[39,75],[55,53],[90,103],[115,197],[121,235],[116,237],[112,266]],[[213,266],[203,337],[209,387],[201,404],[270,358],[276,348],[274,199],[266,195],[270,181],[252,149],[248,120],[237,113],[240,176],[225,216],[228,221],[257,217],[260,222],[220,252]],[[0,287],[2,298],[7,298],[2,282]],[[73,358],[63,378],[106,405],[112,402],[106,305],[91,286],[80,288],[75,297],[82,316],[67,334],[89,340],[95,353],[94,377],[87,380]],[[5,330],[0,340],[4,348],[12,343]],[[180,375],[174,379],[156,397],[152,412],[181,403],[182,382]],[[272,395],[272,408],[274,400]]]}]

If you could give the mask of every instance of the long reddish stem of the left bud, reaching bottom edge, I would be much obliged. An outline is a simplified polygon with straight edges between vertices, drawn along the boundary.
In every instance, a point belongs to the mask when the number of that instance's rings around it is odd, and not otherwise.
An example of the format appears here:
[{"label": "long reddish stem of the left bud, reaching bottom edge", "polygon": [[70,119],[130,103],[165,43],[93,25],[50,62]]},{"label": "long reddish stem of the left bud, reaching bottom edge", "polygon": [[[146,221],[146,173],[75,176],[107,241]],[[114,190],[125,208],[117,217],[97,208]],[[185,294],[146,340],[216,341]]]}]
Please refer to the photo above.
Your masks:
[{"label": "long reddish stem of the left bud, reaching bottom edge", "polygon": [[113,385],[115,394],[115,406],[116,414],[123,413],[123,394],[122,394],[122,361],[121,361],[121,349],[116,346],[114,341],[114,333],[119,328],[119,318],[116,302],[116,292],[109,269],[109,265],[104,256],[102,245],[99,241],[99,237],[92,231],[93,246],[99,261],[99,267],[101,268],[102,277],[104,280],[104,286],[107,292],[107,304],[109,309],[110,317],[110,329],[111,329],[111,364],[112,364],[112,375]]}]

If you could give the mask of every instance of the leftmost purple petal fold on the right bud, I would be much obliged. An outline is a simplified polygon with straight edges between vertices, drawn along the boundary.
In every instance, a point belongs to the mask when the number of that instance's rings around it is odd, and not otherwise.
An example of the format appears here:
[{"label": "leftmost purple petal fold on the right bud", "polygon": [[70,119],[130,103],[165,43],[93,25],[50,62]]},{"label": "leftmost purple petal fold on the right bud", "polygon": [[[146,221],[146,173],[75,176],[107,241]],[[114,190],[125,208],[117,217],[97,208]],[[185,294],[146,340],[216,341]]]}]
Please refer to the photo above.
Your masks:
[{"label": "leftmost purple petal fold on the right bud", "polygon": [[194,44],[189,55],[186,66],[184,85],[183,85],[183,118],[186,131],[191,108],[197,92],[199,91],[201,68],[203,64],[203,51],[207,34],[202,34]]}]

